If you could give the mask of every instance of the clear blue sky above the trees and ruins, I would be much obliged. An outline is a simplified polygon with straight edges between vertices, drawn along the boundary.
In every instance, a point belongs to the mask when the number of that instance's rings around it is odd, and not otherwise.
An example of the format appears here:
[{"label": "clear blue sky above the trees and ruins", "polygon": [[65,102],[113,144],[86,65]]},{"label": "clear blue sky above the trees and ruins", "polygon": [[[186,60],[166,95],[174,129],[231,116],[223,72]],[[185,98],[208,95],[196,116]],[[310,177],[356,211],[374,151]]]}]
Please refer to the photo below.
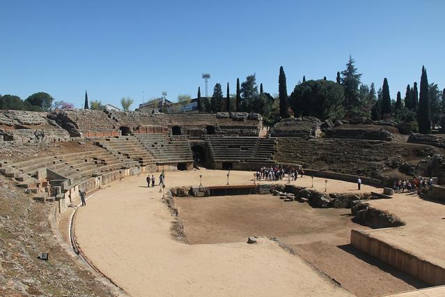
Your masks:
[{"label": "clear blue sky above the trees and ruins", "polygon": [[391,97],[419,82],[445,87],[445,1],[1,1],[0,93],[46,91],[90,100],[204,93],[201,73],[231,85],[256,73],[278,92],[306,79],[335,80],[349,54],[362,82],[389,80]]}]

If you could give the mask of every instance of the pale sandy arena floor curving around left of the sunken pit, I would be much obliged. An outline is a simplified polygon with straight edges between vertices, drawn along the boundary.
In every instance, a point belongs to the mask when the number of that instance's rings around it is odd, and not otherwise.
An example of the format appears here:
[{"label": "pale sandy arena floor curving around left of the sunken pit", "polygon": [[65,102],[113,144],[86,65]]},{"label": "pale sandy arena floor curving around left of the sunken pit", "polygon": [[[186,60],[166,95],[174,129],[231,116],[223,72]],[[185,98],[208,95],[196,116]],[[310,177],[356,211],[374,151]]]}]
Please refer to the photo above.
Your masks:
[{"label": "pale sandy arena floor curving around left of the sunken pit", "polygon": [[[199,174],[205,185],[226,184],[224,171],[196,171],[167,172],[166,185],[199,185]],[[231,183],[252,183],[252,177],[252,172],[231,172]],[[86,257],[130,295],[351,295],[272,241],[254,245],[174,241],[173,217],[162,203],[162,193],[159,187],[146,188],[145,178],[110,184],[79,209],[75,221],[77,243]],[[354,188],[337,181],[329,181],[328,187],[336,184],[336,190]],[[315,184],[318,189],[324,186],[322,179]]]}]

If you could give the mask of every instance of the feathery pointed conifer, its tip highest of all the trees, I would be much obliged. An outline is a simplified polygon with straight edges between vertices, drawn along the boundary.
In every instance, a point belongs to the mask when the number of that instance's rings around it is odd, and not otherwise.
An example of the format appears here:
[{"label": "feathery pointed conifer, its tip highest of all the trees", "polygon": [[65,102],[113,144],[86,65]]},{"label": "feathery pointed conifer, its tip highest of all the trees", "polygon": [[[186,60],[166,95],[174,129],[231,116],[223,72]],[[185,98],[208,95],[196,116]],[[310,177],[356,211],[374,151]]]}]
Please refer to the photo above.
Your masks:
[{"label": "feathery pointed conifer, its tip highest of all the trees", "polygon": [[341,84],[345,89],[345,108],[347,114],[359,107],[359,86],[361,73],[357,73],[357,68],[354,65],[355,60],[352,56],[349,56],[348,63],[346,63],[346,69],[341,72]]}]

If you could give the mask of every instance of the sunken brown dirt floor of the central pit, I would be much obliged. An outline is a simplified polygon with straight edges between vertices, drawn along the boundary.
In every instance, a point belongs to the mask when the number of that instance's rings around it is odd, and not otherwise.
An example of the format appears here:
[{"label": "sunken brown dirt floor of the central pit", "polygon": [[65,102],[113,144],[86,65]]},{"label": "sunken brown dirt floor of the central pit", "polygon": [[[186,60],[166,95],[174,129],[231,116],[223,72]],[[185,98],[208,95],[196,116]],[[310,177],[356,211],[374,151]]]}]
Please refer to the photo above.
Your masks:
[{"label": "sunken brown dirt floor of the central pit", "polygon": [[175,206],[192,244],[277,236],[357,296],[427,287],[350,245],[351,229],[368,229],[351,221],[350,209],[312,208],[272,195],[178,197]]}]

